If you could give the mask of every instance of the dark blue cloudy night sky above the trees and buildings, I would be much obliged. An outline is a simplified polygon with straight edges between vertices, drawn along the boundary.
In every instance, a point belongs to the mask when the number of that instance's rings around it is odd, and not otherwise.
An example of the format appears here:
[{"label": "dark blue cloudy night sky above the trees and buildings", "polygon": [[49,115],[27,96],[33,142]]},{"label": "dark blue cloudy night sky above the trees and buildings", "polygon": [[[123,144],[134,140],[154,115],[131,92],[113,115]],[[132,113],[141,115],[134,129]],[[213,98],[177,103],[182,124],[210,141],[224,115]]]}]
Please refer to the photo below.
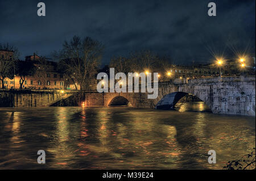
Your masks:
[{"label": "dark blue cloudy night sky above the trees and buildings", "polygon": [[[46,16],[37,15],[39,2]],[[217,16],[208,16],[215,2]],[[51,57],[73,35],[105,45],[102,65],[113,56],[152,50],[175,64],[203,63],[212,53],[255,56],[255,1],[3,1],[0,43],[19,49],[20,59],[37,52]]]}]

